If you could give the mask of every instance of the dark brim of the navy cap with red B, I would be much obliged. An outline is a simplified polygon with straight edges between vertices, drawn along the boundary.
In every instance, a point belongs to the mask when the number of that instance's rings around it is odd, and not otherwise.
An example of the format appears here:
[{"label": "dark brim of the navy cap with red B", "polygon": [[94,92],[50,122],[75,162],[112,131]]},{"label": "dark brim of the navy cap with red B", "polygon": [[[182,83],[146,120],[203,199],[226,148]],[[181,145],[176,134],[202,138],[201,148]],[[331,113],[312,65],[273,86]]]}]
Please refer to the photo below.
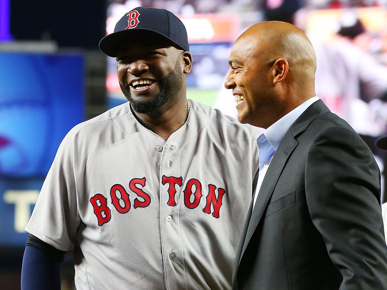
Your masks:
[{"label": "dark brim of the navy cap with red B", "polygon": [[118,31],[118,32],[114,32],[109,35],[106,35],[100,40],[99,49],[108,56],[116,57],[118,50],[120,49],[121,45],[124,42],[127,42],[128,40],[130,40],[131,37],[134,36],[134,34],[143,33],[143,32],[150,32],[149,35],[153,34],[154,37],[159,36],[160,38],[170,41],[171,45],[176,46],[179,49],[185,50],[184,48],[176,44],[173,40],[171,40],[169,37],[166,37],[165,35],[158,33],[157,31],[154,31],[151,29],[143,29],[143,28],[122,30],[122,31]]}]

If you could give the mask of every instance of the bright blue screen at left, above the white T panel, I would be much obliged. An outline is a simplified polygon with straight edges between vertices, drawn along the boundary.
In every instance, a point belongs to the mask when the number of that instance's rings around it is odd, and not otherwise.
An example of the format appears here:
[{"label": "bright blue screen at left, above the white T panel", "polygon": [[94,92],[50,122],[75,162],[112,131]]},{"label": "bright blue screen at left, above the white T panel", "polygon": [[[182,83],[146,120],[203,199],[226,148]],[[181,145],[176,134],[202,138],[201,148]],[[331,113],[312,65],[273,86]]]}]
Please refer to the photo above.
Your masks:
[{"label": "bright blue screen at left, above the white T panel", "polygon": [[0,53],[0,177],[46,175],[84,99],[82,55]]}]

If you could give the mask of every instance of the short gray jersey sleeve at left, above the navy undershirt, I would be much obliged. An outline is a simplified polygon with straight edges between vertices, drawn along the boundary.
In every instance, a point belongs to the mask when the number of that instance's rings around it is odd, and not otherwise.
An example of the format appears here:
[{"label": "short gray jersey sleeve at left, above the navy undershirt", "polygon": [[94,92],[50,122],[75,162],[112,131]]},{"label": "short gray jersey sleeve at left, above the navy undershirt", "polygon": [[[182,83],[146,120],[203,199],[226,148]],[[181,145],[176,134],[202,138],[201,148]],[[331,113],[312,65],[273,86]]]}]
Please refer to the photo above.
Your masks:
[{"label": "short gray jersey sleeve at left, above the navy undershirt", "polygon": [[71,249],[80,224],[71,132],[60,143],[25,229],[61,251]]}]

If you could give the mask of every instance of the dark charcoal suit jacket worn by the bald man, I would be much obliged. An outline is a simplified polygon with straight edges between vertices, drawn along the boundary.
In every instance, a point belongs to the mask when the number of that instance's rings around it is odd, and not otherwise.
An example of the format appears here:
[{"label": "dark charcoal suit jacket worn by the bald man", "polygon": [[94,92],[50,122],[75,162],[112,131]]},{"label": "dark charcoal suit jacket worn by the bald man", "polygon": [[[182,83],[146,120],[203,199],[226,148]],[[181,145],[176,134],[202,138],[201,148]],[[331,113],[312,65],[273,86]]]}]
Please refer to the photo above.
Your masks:
[{"label": "dark charcoal suit jacket worn by the bald man", "polygon": [[246,220],[234,289],[387,289],[379,176],[359,135],[313,103],[268,168]]}]

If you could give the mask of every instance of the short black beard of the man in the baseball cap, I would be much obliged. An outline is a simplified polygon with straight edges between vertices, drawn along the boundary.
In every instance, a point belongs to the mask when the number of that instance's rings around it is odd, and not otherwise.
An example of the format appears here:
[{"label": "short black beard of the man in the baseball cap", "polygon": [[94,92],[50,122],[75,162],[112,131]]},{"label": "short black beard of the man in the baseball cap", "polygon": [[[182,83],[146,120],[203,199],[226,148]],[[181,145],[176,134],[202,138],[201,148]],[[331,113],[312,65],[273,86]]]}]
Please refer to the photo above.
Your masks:
[{"label": "short black beard of the man in the baseball cap", "polygon": [[176,61],[174,70],[159,81],[160,92],[154,97],[133,99],[130,85],[122,86],[121,90],[126,99],[131,103],[137,113],[149,113],[173,99],[183,86],[183,74],[179,60]]}]

